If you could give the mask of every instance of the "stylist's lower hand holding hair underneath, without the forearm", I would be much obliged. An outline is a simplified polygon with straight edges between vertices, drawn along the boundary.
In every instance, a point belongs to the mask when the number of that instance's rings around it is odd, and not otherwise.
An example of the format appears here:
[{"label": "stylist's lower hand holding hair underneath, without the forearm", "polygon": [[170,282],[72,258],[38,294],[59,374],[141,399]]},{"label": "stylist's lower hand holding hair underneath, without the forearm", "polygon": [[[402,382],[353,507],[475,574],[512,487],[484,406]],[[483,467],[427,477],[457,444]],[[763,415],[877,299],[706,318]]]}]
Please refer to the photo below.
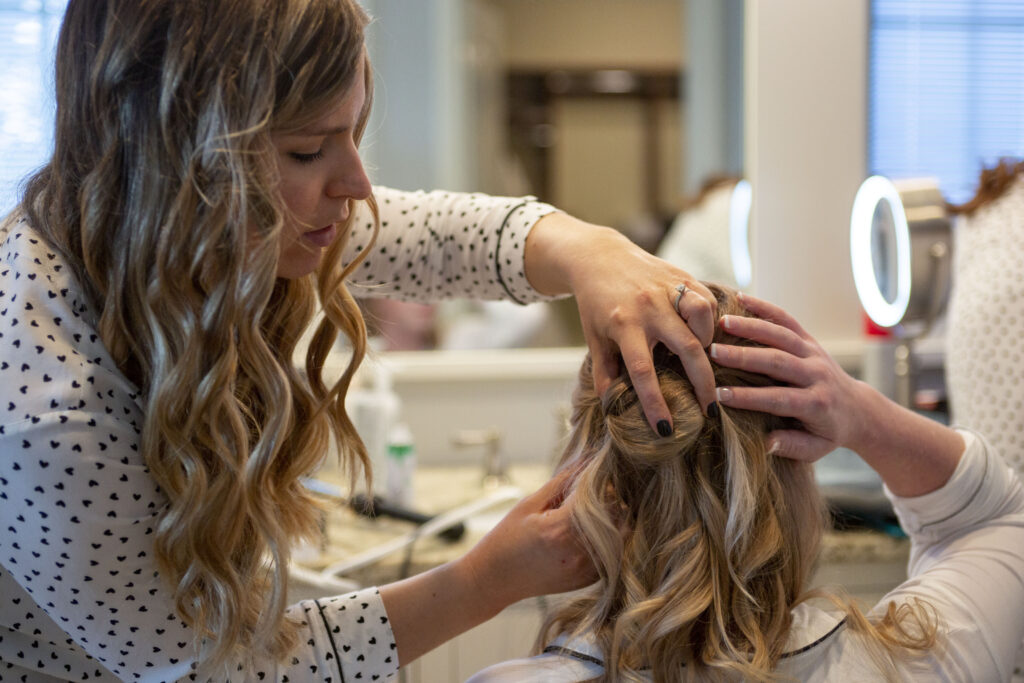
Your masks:
[{"label": "stylist's lower hand holding hair underneath, without the forearm", "polygon": [[583,588],[597,571],[580,544],[564,492],[573,476],[563,471],[519,501],[464,558],[481,592],[501,605]]}]

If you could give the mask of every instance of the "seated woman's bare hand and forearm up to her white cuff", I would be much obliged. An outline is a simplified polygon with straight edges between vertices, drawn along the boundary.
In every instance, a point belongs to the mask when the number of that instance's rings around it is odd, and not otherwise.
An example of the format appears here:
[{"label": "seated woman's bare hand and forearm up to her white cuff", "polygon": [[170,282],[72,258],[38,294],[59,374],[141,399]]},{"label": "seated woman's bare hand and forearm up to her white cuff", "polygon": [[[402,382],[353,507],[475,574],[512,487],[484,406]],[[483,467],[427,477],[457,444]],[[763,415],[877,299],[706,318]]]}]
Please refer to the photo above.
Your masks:
[{"label": "seated woman's bare hand and forearm up to her white cuff", "polygon": [[764,348],[713,344],[722,365],[772,377],[785,386],[720,387],[730,408],[796,418],[802,430],[773,432],[780,456],[814,461],[838,446],[855,451],[896,496],[928,494],[952,475],[964,452],[953,429],[896,404],[853,379],[784,310],[749,295],[760,317],[725,315],[723,328]]}]

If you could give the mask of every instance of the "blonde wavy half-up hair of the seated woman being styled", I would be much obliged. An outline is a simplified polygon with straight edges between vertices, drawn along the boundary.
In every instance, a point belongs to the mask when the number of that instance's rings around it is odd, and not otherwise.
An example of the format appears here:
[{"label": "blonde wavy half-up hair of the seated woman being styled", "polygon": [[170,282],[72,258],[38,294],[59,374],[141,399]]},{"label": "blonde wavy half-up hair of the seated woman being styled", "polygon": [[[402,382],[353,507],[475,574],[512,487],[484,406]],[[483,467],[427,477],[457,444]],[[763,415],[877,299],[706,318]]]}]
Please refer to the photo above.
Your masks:
[{"label": "blonde wavy half-up hair of the seated woman being styled", "polygon": [[[719,313],[749,314],[733,292],[708,286]],[[720,329],[715,341],[754,345]],[[537,650],[590,634],[605,655],[595,680],[775,680],[791,611],[815,595],[846,611],[887,676],[893,655],[929,650],[927,604],[890,604],[871,623],[849,600],[806,591],[827,513],[812,467],[766,443],[797,425],[724,407],[706,418],[679,358],[658,346],[654,360],[674,422],[666,438],[652,435],[627,376],[598,396],[589,356],[580,371],[562,466],[578,470],[572,520],[600,579],[549,613]],[[717,386],[773,383],[713,367]]]}]

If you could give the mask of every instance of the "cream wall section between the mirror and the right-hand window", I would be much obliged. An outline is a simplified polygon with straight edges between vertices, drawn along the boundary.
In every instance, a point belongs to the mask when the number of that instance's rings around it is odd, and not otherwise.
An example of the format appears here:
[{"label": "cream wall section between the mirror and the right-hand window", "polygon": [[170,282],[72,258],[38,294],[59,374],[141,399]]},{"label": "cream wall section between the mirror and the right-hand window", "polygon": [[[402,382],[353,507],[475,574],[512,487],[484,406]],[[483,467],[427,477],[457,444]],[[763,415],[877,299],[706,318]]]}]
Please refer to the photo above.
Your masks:
[{"label": "cream wall section between the mirror and the right-hand window", "polygon": [[753,292],[829,346],[860,339],[849,214],[866,170],[867,0],[748,0]]}]

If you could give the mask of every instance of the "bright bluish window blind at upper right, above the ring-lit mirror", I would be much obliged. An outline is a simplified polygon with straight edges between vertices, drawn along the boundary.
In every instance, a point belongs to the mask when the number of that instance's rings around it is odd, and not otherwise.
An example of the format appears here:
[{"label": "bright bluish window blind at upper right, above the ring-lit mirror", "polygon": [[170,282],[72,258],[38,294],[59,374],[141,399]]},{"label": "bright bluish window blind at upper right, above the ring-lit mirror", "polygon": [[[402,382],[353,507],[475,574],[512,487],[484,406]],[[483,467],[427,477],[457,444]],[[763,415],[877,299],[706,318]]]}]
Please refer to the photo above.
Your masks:
[{"label": "bright bluish window blind at upper right, above the ring-lit mirror", "polygon": [[1024,157],[1024,1],[872,0],[868,167],[973,197]]}]

